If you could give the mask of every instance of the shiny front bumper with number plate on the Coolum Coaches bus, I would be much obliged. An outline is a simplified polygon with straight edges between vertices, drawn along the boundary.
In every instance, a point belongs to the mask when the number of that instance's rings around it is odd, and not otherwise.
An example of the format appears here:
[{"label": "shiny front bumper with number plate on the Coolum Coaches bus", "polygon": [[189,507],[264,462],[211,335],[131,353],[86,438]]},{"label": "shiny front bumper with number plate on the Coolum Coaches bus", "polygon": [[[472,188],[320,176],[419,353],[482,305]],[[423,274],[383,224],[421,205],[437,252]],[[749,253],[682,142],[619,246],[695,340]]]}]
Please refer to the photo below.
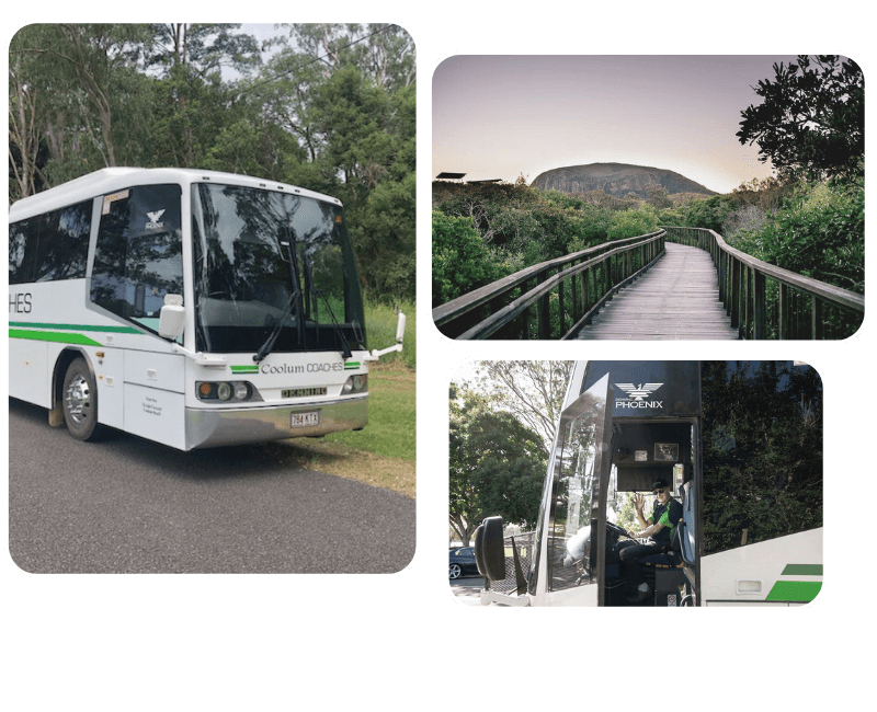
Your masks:
[{"label": "shiny front bumper with number plate on the Coolum Coaches bus", "polygon": [[186,407],[186,449],[316,437],[363,428],[367,422],[367,393],[331,403],[223,410]]}]

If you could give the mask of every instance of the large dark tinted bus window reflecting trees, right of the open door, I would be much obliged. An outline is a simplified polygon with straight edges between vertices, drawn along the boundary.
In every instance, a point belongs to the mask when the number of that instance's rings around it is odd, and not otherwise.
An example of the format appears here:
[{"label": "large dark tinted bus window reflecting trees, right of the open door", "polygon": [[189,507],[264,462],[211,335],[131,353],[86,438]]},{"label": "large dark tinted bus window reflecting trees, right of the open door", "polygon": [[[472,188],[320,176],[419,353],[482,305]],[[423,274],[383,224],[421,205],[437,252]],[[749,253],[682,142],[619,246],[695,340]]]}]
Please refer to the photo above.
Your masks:
[{"label": "large dark tinted bus window reflecting trees, right of the open door", "polygon": [[823,525],[822,380],[784,361],[702,361],[704,553]]}]

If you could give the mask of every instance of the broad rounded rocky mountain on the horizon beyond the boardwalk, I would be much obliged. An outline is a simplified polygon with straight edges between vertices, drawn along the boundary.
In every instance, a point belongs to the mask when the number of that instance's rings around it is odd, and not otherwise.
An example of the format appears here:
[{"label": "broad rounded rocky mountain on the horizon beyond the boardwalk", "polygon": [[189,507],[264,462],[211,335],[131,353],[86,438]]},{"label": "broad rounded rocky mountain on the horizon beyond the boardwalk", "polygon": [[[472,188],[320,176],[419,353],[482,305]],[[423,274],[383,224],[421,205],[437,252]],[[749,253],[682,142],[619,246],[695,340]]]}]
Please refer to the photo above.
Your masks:
[{"label": "broad rounded rocky mountain on the horizon beyond the boardwalk", "polygon": [[588,193],[603,191],[610,195],[624,197],[636,193],[643,198],[646,186],[658,183],[673,193],[701,193],[718,195],[684,175],[660,168],[647,165],[629,165],[627,163],[589,163],[588,165],[568,165],[539,173],[531,184],[543,191],[561,191],[563,193]]}]

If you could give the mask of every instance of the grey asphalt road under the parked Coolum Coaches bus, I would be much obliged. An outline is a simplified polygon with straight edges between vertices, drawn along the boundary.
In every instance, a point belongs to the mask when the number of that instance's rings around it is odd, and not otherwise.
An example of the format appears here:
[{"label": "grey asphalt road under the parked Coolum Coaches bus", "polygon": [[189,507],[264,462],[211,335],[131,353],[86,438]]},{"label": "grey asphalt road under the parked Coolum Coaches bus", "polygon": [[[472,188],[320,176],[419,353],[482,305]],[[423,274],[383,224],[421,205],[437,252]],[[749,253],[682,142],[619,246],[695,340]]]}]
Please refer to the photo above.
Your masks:
[{"label": "grey asphalt road under the parked Coolum Coaches bus", "polygon": [[27,574],[373,574],[417,556],[415,503],[292,463],[291,441],[80,443],[9,401],[7,553]]}]

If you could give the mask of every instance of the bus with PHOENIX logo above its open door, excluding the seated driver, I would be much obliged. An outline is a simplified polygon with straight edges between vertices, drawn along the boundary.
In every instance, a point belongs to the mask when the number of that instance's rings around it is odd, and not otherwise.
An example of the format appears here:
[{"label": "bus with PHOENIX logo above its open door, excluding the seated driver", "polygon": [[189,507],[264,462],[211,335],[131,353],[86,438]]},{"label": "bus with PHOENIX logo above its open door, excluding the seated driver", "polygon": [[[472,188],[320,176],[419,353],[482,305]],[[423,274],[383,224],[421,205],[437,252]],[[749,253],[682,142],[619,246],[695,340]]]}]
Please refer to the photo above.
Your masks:
[{"label": "bus with PHOENIX logo above its open door, excluding the seated driver", "polygon": [[[536,530],[503,538],[494,516],[476,531],[481,602],[809,606],[824,590],[823,438],[807,361],[577,361]],[[619,554],[654,529],[634,510],[653,492],[677,518],[636,560],[639,595]]]}]

